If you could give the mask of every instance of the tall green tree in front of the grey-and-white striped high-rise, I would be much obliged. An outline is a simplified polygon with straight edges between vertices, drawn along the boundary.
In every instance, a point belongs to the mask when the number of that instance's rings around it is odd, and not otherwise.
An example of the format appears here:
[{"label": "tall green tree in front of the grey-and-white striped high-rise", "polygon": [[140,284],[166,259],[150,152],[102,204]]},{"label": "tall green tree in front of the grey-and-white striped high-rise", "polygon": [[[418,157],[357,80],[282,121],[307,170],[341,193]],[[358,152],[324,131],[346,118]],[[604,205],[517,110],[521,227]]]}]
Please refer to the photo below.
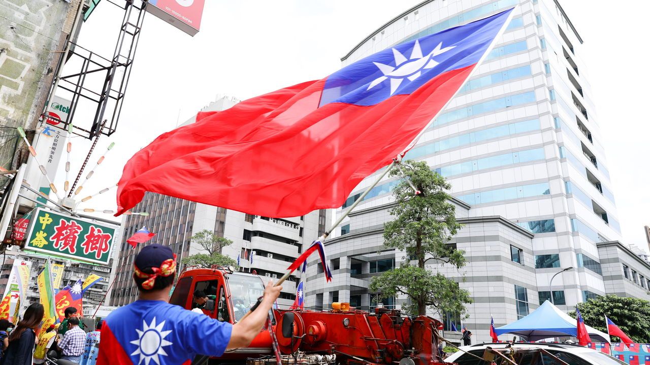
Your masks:
[{"label": "tall green tree in front of the grey-and-white striped high-rise", "polygon": [[[427,307],[441,316],[446,312],[464,314],[465,304],[471,303],[469,292],[445,275],[424,268],[428,259],[457,269],[466,263],[465,252],[448,244],[462,227],[456,221],[456,208],[449,203],[450,195],[445,192],[451,186],[423,161],[405,161],[400,169],[390,172],[390,176],[402,174],[405,179],[393,190],[396,205],[390,213],[395,220],[384,225],[383,245],[405,251],[410,260],[373,277],[370,290],[381,292],[383,297],[408,296],[411,305],[402,308],[411,314],[426,314]],[[406,179],[420,194],[414,194]],[[417,265],[411,264],[413,260]]]}]

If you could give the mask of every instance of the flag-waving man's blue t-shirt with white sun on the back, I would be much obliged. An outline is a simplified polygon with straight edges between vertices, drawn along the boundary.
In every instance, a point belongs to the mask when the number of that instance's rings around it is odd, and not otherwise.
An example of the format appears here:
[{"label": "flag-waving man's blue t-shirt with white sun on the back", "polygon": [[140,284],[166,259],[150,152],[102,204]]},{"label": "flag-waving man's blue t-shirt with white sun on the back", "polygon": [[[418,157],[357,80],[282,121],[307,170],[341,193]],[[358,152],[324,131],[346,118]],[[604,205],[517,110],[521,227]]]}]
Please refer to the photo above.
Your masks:
[{"label": "flag-waving man's blue t-shirt with white sun on the back", "polygon": [[177,365],[220,356],[232,327],[164,301],[138,300],[105,319],[97,364]]}]

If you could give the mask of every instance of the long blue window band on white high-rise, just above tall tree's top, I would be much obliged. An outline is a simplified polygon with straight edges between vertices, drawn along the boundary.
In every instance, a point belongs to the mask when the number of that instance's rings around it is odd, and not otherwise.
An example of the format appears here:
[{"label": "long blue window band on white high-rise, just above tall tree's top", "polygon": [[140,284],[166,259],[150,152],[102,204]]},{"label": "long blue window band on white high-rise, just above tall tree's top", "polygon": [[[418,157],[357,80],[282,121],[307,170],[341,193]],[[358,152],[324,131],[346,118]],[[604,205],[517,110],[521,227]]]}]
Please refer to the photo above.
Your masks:
[{"label": "long blue window band on white high-rise, just above tall tree's top", "polygon": [[539,131],[539,129],[541,129],[541,126],[539,125],[538,119],[517,121],[516,123],[499,125],[499,127],[491,127],[476,132],[461,134],[460,136],[447,138],[445,140],[439,140],[432,144],[419,145],[408,151],[404,157],[404,160],[431,155],[432,153],[445,151],[445,149],[460,147],[461,145],[468,145],[474,142],[482,142],[491,140],[493,138],[512,136],[514,134],[523,132]]}]

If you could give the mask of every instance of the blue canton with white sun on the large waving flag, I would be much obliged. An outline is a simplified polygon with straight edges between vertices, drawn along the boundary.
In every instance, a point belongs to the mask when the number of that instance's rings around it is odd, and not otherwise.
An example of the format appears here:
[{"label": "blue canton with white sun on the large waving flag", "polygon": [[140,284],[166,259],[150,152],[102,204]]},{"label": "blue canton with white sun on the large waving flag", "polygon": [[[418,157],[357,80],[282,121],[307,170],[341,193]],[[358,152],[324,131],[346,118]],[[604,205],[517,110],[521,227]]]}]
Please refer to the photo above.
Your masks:
[{"label": "blue canton with white sun on the large waving flag", "polygon": [[393,95],[411,94],[434,77],[476,64],[512,9],[489,18],[394,45],[350,64],[325,81],[320,105],[370,106]]}]

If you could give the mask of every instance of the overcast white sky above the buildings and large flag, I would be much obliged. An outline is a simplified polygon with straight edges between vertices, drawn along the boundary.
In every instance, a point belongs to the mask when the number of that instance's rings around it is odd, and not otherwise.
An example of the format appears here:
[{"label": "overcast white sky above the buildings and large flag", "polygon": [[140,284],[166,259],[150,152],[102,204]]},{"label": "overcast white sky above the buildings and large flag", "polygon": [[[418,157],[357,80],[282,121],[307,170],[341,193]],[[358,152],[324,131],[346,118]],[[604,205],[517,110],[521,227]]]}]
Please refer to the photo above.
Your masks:
[{"label": "overcast white sky above the buildings and large flag", "polygon": [[[201,31],[194,37],[148,14],[118,132],[100,140],[98,151],[110,142],[116,147],[85,192],[116,183],[133,153],[196,114],[216,94],[247,99],[321,79],[340,68],[339,59],[370,32],[420,2],[206,0]],[[603,130],[624,243],[647,250],[643,225],[650,225],[650,125],[643,108],[649,105],[650,77],[642,66],[649,56],[642,39],[648,34],[650,2],[561,3],[584,40],[582,59]],[[120,20],[115,6],[101,2],[84,25],[79,44],[110,57]],[[79,142],[77,151],[85,145]],[[92,158],[91,167],[98,157]],[[80,164],[76,161],[73,169]],[[62,174],[57,181],[62,186]],[[85,207],[114,209],[114,190],[105,195]]]}]

